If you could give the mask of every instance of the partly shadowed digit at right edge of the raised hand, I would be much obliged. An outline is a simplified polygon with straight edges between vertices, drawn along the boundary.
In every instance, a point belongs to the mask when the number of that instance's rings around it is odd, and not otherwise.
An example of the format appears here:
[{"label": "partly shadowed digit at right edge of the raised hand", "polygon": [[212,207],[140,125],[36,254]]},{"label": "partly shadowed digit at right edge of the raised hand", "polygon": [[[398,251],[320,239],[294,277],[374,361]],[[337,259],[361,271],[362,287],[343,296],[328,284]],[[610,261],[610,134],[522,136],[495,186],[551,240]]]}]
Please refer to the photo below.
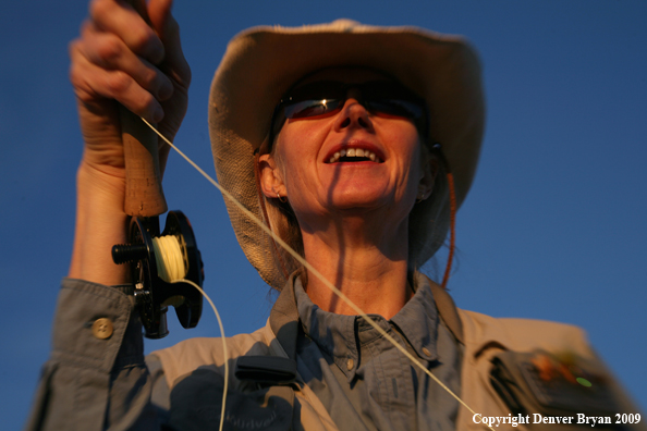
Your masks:
[{"label": "partly shadowed digit at right edge of the raised hand", "polygon": [[150,0],[148,15],[150,24],[164,45],[164,72],[171,75],[178,85],[188,88],[191,67],[182,51],[180,26],[171,14],[172,4],[173,0]]}]

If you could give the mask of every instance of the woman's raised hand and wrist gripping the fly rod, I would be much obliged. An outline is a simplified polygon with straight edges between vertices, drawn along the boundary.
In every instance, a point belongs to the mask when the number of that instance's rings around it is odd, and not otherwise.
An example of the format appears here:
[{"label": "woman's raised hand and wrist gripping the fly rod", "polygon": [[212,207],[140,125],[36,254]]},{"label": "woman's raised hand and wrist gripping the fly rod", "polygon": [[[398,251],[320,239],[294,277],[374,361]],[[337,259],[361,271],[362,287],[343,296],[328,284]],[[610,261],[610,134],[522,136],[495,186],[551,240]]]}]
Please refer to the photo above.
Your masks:
[{"label": "woman's raised hand and wrist gripping the fly rod", "polygon": [[[93,0],[81,37],[70,45],[70,78],[85,141],[82,168],[119,178],[125,173],[118,102],[158,122],[172,139],[191,82],[172,0],[132,2],[136,10],[120,0]],[[163,171],[169,147],[160,140],[159,148]]]}]

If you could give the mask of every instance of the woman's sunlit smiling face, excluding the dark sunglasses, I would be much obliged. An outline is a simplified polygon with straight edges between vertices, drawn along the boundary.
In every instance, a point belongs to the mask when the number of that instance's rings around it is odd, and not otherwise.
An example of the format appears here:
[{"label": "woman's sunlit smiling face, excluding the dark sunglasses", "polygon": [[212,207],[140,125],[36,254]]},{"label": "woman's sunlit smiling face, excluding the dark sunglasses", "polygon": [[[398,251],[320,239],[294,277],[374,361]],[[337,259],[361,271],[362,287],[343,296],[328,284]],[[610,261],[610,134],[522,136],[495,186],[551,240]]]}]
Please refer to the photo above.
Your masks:
[{"label": "woman's sunlit smiling face, excluding the dark sunglasses", "polygon": [[[325,81],[391,82],[371,70],[330,69],[296,88]],[[350,86],[345,103],[333,113],[286,120],[272,156],[261,158],[269,168],[261,172],[264,193],[268,198],[286,196],[302,229],[335,216],[368,212],[398,222],[408,216],[420,184],[430,193],[434,173],[422,160],[414,123],[369,112],[357,100],[358,91]]]}]

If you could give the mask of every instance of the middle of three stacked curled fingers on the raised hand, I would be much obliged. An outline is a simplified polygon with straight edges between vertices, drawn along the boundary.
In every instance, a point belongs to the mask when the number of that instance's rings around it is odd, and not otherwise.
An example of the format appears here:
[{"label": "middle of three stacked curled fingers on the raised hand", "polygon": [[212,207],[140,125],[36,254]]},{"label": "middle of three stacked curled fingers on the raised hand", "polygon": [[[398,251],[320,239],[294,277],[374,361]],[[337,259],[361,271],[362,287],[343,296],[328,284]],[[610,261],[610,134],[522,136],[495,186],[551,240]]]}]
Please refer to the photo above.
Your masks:
[{"label": "middle of three stacked curled fingers on the raised hand", "polygon": [[99,67],[125,72],[158,100],[167,100],[173,94],[171,79],[155,65],[135,56],[123,40],[111,33],[84,28],[78,50]]}]

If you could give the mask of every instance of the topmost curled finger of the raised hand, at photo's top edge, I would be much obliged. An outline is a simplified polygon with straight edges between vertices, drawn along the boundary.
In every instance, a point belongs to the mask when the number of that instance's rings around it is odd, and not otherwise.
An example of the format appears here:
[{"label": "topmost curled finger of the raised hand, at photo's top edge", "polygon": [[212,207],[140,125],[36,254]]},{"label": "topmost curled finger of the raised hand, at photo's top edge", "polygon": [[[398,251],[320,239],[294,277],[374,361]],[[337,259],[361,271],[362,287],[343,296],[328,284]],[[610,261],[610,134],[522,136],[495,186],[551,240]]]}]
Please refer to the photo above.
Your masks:
[{"label": "topmost curled finger of the raised hand, at photo's top edge", "polygon": [[93,0],[90,19],[98,29],[113,33],[129,49],[152,64],[159,64],[164,59],[160,38],[130,4],[118,0]]}]

